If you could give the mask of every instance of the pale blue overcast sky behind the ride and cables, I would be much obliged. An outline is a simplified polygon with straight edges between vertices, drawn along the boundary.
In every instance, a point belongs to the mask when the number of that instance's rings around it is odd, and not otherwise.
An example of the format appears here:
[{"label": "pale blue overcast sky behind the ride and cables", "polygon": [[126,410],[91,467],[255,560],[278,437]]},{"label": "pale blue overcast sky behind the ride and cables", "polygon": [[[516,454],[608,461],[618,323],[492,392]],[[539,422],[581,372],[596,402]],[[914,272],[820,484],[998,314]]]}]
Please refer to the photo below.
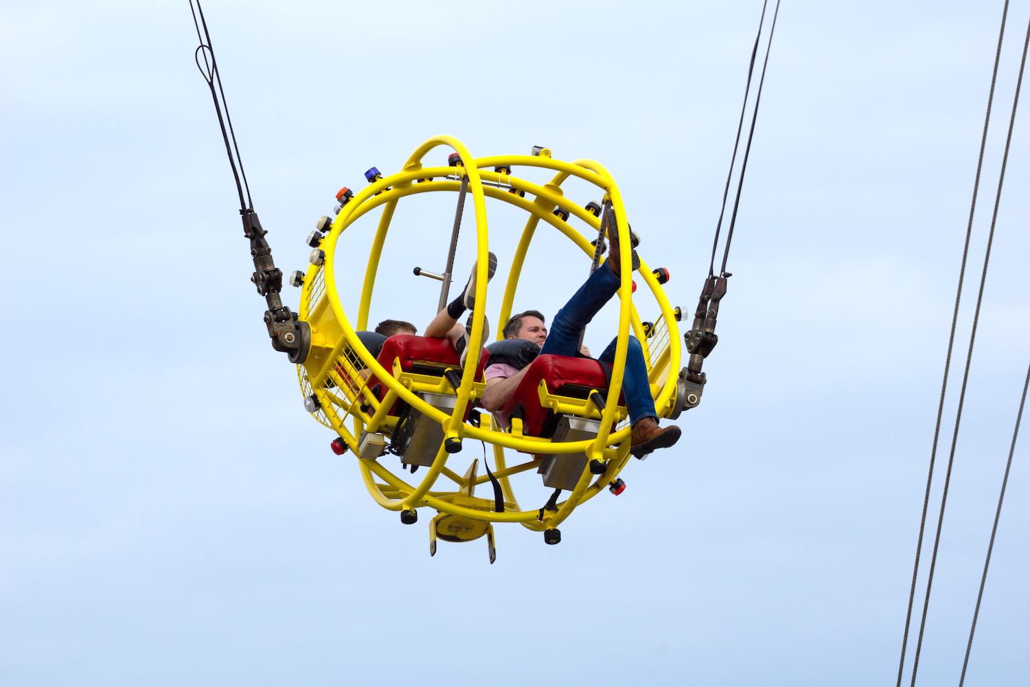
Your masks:
[{"label": "pale blue overcast sky behind the ride and cables", "polygon": [[[376,506],[304,411],[248,281],[186,0],[0,3],[0,683],[893,685],[1001,6],[784,0],[701,405],[560,545],[502,525],[489,565],[483,541],[431,558],[433,513],[405,526]],[[694,307],[759,0],[205,10],[284,271],[307,265],[340,186],[447,133],[475,156],[605,164],[670,300]],[[1028,20],[1014,0],[931,537]],[[1027,107],[920,684],[958,683],[1030,358]],[[442,271],[440,196],[401,203],[373,322],[432,317],[411,268]],[[524,217],[488,209],[503,279]],[[351,312],[374,227],[341,241]],[[550,317],[588,262],[542,231],[529,261],[515,307]],[[616,321],[612,305],[586,343]],[[1025,448],[966,685],[1030,682]],[[548,495],[538,480],[515,482],[527,508]]]}]

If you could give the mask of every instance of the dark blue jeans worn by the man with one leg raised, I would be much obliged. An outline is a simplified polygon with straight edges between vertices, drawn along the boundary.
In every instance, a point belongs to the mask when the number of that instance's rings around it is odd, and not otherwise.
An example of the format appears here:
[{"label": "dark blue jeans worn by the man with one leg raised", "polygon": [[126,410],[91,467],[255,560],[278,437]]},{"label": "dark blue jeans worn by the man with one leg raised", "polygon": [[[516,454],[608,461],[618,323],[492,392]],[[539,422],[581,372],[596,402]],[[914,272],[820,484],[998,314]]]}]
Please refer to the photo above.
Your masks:
[{"label": "dark blue jeans worn by the man with one leg raised", "polygon": [[[544,342],[540,354],[552,353],[574,357],[580,332],[618,290],[619,279],[612,273],[607,263],[594,270],[590,278],[569,299],[565,307],[554,316],[551,331],[547,334],[547,341]],[[612,339],[612,343],[608,344],[608,348],[597,359],[603,363],[613,363],[617,341],[618,337]],[[658,419],[658,414],[654,412],[654,400],[651,398],[647,366],[644,364],[644,350],[641,348],[641,342],[631,336],[626,351],[622,393],[626,398],[626,410],[629,411],[629,420],[633,424],[645,417]]]}]

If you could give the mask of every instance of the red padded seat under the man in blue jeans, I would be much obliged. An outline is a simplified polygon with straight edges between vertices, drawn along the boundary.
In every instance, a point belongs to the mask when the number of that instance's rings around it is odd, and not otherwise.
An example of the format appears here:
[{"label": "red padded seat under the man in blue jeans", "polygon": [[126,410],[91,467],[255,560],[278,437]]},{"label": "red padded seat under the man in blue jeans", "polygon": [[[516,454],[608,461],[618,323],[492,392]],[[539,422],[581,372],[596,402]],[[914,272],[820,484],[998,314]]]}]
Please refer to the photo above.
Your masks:
[{"label": "red padded seat under the man in blue jeans", "polygon": [[[557,424],[557,416],[550,408],[540,405],[537,388],[540,381],[547,383],[547,390],[558,396],[586,399],[591,389],[608,393],[608,376],[600,363],[588,357],[565,355],[538,355],[529,364],[522,381],[497,415],[511,422],[512,416],[522,417],[522,431],[533,437],[550,438]],[[625,399],[619,394],[619,404]]]}]

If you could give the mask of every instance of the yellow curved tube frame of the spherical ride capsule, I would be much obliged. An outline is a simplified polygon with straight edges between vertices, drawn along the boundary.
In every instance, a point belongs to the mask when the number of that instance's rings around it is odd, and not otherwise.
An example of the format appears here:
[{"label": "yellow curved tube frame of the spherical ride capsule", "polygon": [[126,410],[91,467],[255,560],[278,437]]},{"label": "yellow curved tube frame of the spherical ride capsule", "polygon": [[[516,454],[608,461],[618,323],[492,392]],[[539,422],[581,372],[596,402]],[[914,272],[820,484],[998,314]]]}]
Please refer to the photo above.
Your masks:
[{"label": "yellow curved tube frame of the spherical ride capsule", "polygon": [[[464,165],[458,165],[456,168],[423,168],[421,160],[425,153],[441,145],[449,146],[455,152],[460,154]],[[492,168],[499,166],[508,168],[518,166],[542,167],[552,169],[556,172],[556,174],[550,182],[544,184],[543,186],[539,186],[515,176],[492,171]],[[437,191],[457,192],[460,187],[460,181],[458,179],[460,179],[462,175],[467,175],[469,178],[468,190],[472,195],[473,208],[475,211],[478,257],[476,281],[477,303],[486,302],[486,270],[488,252],[486,198],[490,197],[495,200],[510,203],[529,213],[529,219],[526,222],[522,238],[519,241],[515,254],[512,257],[512,267],[508,283],[505,287],[505,296],[501,313],[495,320],[499,324],[507,321],[511,314],[511,306],[518,286],[519,275],[521,274],[525,254],[540,220],[550,224],[552,227],[564,234],[577,246],[579,246],[587,256],[591,259],[593,256],[593,246],[590,245],[590,239],[573,229],[568,221],[560,219],[552,213],[552,210],[555,207],[560,207],[569,211],[571,217],[578,217],[580,220],[585,222],[592,230],[593,236],[596,236],[597,231],[599,231],[599,218],[595,217],[584,207],[570,202],[562,195],[561,183],[564,182],[564,180],[570,176],[575,176],[594,184],[603,191],[606,200],[611,201],[619,228],[621,262],[623,265],[630,264],[628,221],[626,220],[622,197],[619,194],[618,185],[615,183],[611,174],[602,165],[591,160],[578,160],[574,163],[566,163],[551,158],[534,156],[503,156],[476,159],[472,157],[469,149],[457,139],[451,136],[435,136],[422,143],[411,154],[401,172],[391,176],[383,177],[382,179],[369,184],[360,192],[354,194],[350,202],[343,207],[336,219],[333,221],[332,229],[327,235],[327,238],[322,242],[321,246],[321,248],[325,251],[324,266],[320,271],[321,276],[324,279],[324,295],[319,296],[317,298],[317,302],[311,302],[313,298],[313,284],[319,276],[319,270],[310,270],[308,275],[305,277],[304,289],[301,296],[300,316],[302,319],[308,319],[310,321],[309,318],[311,318],[314,313],[325,315],[327,313],[324,313],[324,308],[325,302],[328,302],[328,306],[332,309],[332,315],[335,318],[334,331],[339,330],[339,337],[336,338],[335,341],[332,341],[332,352],[328,358],[324,358],[321,363],[316,363],[309,356],[309,360],[304,367],[307,370],[308,378],[311,382],[311,388],[322,407],[328,407],[329,404],[334,402],[336,402],[337,406],[340,406],[341,403],[339,397],[336,397],[329,388],[327,388],[325,383],[328,380],[332,380],[338,386],[346,383],[340,378],[337,371],[341,367],[353,369],[352,365],[346,359],[345,355],[345,352],[349,349],[349,351],[352,351],[351,355],[359,357],[362,363],[364,363],[364,365],[372,371],[372,374],[374,374],[382,383],[386,385],[391,397],[396,397],[407,402],[425,416],[440,422],[444,426],[446,436],[457,437],[459,439],[470,438],[473,440],[482,440],[493,445],[496,474],[502,483],[505,501],[509,502],[509,504],[515,504],[516,506],[516,510],[511,512],[484,512],[449,503],[448,496],[452,495],[453,492],[431,491],[431,488],[435,485],[441,474],[446,475],[449,479],[459,485],[462,482],[462,478],[458,477],[455,472],[446,467],[446,462],[450,454],[446,453],[443,450],[443,446],[441,446],[437,452],[433,466],[430,467],[427,474],[422,478],[421,483],[417,486],[412,486],[406,483],[400,477],[393,475],[389,470],[383,467],[378,460],[365,459],[358,456],[357,459],[365,484],[368,487],[369,492],[372,494],[372,497],[383,508],[392,511],[400,511],[409,508],[428,506],[441,512],[460,515],[476,520],[489,520],[492,522],[520,522],[530,529],[538,530],[555,527],[558,523],[568,518],[580,503],[593,497],[606,485],[614,480],[622,468],[626,465],[629,457],[628,435],[630,427],[627,425],[615,433],[610,434],[609,432],[613,424],[613,420],[616,419],[618,399],[622,388],[622,378],[625,368],[630,328],[633,329],[638,339],[644,346],[645,359],[647,360],[648,358],[647,337],[644,336],[640,316],[632,307],[630,298],[631,275],[628,270],[623,271],[622,273],[622,283],[618,291],[620,303],[619,333],[616,343],[615,360],[612,365],[612,379],[609,385],[605,410],[603,411],[600,417],[600,432],[593,440],[566,443],[547,443],[545,440],[542,444],[540,439],[533,440],[517,434],[507,434],[495,426],[491,426],[490,430],[486,430],[467,424],[462,422],[461,418],[465,416],[465,411],[468,405],[475,401],[473,388],[475,366],[466,367],[461,376],[460,385],[456,390],[457,400],[454,405],[453,412],[450,415],[447,415],[428,405],[422,401],[422,399],[418,398],[412,388],[409,388],[410,383],[406,385],[394,378],[393,374],[391,374],[392,371],[385,370],[378,363],[378,360],[372,356],[368,349],[365,348],[355,334],[355,329],[365,330],[368,324],[369,309],[372,302],[372,291],[379,267],[379,259],[382,254],[383,243],[386,239],[386,234],[389,231],[390,220],[398,201],[405,196],[418,193]],[[455,176],[457,178],[453,178]],[[416,179],[430,178],[433,178],[434,180],[424,180],[418,183],[413,183]],[[517,193],[509,193],[507,188],[499,188],[491,185],[484,186],[482,183],[483,180],[525,192],[526,194],[534,196],[535,200],[526,200],[525,198],[520,197]],[[380,217],[379,226],[373,240],[372,250],[369,255],[368,267],[365,273],[365,283],[362,287],[362,297],[358,306],[357,319],[355,322],[356,328],[354,328],[350,324],[350,320],[343,311],[343,307],[340,304],[339,294],[337,291],[335,275],[335,266],[337,262],[336,245],[341,234],[350,225],[352,225],[358,217],[379,206],[384,206],[383,212]],[[668,346],[671,349],[668,365],[670,369],[675,371],[680,367],[680,335],[676,317],[673,313],[672,306],[668,304],[668,300],[665,298],[664,293],[658,284],[657,279],[651,273],[651,270],[648,269],[647,265],[645,265],[643,261],[641,263],[639,274],[643,278],[644,283],[650,287],[651,293],[658,301],[661,309],[661,316],[668,330]],[[472,332],[470,336],[471,341],[469,342],[469,346],[472,350],[478,350],[480,346],[485,343],[482,341],[483,318],[483,309],[477,309],[474,311]],[[499,325],[497,329],[501,330],[502,328]],[[324,337],[327,342],[331,342],[330,340],[335,338],[333,334],[334,333],[329,332],[328,329],[325,333],[320,333],[315,329],[314,324],[312,324],[312,336],[315,340],[322,340],[319,337]],[[497,338],[500,339],[501,336],[502,335],[499,331]],[[672,402],[675,400],[674,394],[676,393],[676,379],[675,374],[667,375],[665,383],[659,389],[657,397],[655,398],[655,408],[658,409],[659,415],[663,414],[663,409],[671,407]],[[384,403],[387,402],[390,405],[392,404],[391,400],[384,400]],[[380,404],[375,401],[374,398],[370,399],[369,403],[375,409],[379,409],[380,407]],[[372,419],[372,417],[357,412],[357,406],[358,402],[356,400],[349,404],[349,407],[344,413],[343,420],[335,416],[329,417],[330,424],[340,435],[340,438],[347,445],[350,451],[354,453],[354,455],[357,455],[357,441],[360,432],[364,428],[362,418],[365,417],[365,421]],[[348,431],[344,424],[344,420],[347,415],[353,416],[353,432]],[[375,413],[377,419],[381,419],[383,415],[384,412]],[[378,424],[378,421],[376,421],[376,424]],[[590,483],[590,480],[593,476],[589,473],[589,471],[584,470],[576,489],[570,494],[569,499],[558,505],[557,511],[545,512],[543,519],[541,519],[539,510],[518,510],[518,502],[515,500],[508,479],[509,475],[535,468],[539,461],[530,460],[529,462],[521,466],[507,469],[504,459],[504,449],[511,448],[523,453],[534,453],[540,452],[544,445],[546,445],[546,452],[548,453],[578,453],[583,451],[591,457],[608,458],[608,470],[604,475],[598,476],[597,480],[592,484]],[[373,476],[381,479],[384,484],[377,483]],[[477,482],[482,482],[485,479],[485,477],[479,478]]]}]

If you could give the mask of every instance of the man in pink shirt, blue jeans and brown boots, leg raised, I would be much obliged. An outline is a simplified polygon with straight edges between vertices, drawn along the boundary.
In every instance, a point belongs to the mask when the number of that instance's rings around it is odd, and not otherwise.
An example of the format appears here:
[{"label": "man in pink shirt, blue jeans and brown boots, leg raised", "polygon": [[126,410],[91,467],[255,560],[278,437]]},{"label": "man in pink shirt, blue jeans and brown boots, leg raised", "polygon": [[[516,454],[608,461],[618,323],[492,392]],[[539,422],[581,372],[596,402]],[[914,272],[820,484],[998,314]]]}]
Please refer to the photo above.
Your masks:
[{"label": "man in pink shirt, blue jeans and brown boots, leg raised", "polygon": [[[522,339],[541,346],[541,355],[553,353],[556,355],[576,355],[580,333],[593,316],[619,290],[621,266],[619,261],[618,233],[615,230],[615,212],[608,211],[608,238],[611,248],[608,260],[590,275],[590,278],[573,295],[569,303],[554,316],[550,334],[544,325],[543,315],[536,310],[527,310],[508,320],[504,334],[508,339]],[[640,267],[640,257],[632,251],[633,269]],[[598,360],[613,363],[615,360],[616,339],[608,345]],[[589,354],[585,348],[583,353]],[[486,410],[500,410],[514,393],[515,388],[525,376],[527,368],[517,370],[506,363],[496,363],[486,368],[484,378],[486,388],[483,391],[481,404]],[[667,448],[680,439],[680,427],[675,424],[667,427],[658,426],[658,414],[654,410],[651,399],[651,384],[647,378],[647,366],[644,364],[644,351],[640,341],[629,337],[629,348],[626,351],[626,366],[622,378],[622,393],[626,399],[626,410],[633,431],[629,440],[629,452],[642,458],[656,448]]]}]

